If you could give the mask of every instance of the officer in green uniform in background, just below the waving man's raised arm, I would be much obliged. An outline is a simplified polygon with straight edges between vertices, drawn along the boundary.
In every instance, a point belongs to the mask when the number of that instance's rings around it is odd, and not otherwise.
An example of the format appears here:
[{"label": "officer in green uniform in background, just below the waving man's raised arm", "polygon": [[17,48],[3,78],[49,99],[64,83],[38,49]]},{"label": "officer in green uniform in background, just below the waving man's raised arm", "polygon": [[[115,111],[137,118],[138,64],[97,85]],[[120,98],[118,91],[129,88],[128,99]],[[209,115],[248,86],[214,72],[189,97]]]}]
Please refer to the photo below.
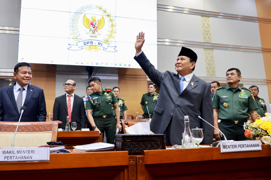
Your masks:
[{"label": "officer in green uniform in background, just below the waving man's raised arm", "polygon": [[[144,94],[141,98],[141,108],[144,111],[143,117],[144,119],[151,118],[152,114],[154,114],[154,108],[157,104],[159,94],[155,93],[156,88],[154,84],[150,84],[148,87],[148,93]],[[148,107],[148,108],[147,108]],[[150,116],[148,114],[148,110]]]}]

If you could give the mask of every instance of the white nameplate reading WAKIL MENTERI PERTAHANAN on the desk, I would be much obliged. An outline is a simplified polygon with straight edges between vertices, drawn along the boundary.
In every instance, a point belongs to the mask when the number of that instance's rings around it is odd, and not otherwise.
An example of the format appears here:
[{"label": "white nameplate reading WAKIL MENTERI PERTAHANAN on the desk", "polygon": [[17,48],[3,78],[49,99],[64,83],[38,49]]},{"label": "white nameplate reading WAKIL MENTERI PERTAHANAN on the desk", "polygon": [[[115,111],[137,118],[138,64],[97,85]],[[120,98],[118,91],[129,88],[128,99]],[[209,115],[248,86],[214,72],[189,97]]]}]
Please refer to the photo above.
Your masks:
[{"label": "white nameplate reading WAKIL MENTERI PERTAHANAN on the desk", "polygon": [[49,147],[8,147],[0,148],[0,162],[10,161],[49,161]]}]

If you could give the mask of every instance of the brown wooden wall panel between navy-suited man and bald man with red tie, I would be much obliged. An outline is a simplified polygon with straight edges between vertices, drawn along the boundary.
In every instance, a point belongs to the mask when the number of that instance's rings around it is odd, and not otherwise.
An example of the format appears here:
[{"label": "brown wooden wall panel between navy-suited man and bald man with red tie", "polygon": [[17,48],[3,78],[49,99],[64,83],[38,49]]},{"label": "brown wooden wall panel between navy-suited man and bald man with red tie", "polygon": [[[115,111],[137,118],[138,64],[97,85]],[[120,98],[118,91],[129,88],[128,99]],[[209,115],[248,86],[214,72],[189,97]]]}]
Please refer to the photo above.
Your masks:
[{"label": "brown wooden wall panel between navy-suited man and bald man with red tie", "polygon": [[56,65],[30,64],[32,67],[31,84],[43,89],[47,114],[53,113],[55,102]]}]

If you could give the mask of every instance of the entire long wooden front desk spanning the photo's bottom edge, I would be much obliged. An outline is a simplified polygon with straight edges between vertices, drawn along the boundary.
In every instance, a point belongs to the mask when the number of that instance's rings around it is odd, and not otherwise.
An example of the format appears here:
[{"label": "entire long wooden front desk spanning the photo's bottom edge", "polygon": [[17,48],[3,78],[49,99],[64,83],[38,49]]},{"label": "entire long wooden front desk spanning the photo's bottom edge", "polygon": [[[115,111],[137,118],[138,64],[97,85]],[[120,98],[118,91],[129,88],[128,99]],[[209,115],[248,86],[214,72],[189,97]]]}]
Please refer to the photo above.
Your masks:
[{"label": "entire long wooden front desk spanning the photo's bottom edge", "polygon": [[271,147],[220,153],[219,147],[51,154],[50,162],[2,162],[1,179],[270,179]]}]

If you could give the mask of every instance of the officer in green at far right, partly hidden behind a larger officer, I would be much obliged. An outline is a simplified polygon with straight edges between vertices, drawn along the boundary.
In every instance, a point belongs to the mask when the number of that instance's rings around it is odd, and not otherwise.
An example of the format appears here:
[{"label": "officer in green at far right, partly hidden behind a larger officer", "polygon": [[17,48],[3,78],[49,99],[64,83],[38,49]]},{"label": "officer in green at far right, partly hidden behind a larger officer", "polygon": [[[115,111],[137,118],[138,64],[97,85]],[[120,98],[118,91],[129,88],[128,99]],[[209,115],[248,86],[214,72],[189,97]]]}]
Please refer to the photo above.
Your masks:
[{"label": "officer in green at far right, partly hidden behind a larger officer", "polygon": [[265,101],[263,100],[263,98],[258,97],[259,88],[255,85],[252,85],[252,86],[250,86],[249,89],[251,90],[251,93],[252,93],[255,101],[257,101],[257,105],[258,105],[258,109],[256,109],[257,113],[261,117],[265,117],[265,113],[267,112],[267,108],[266,108],[266,104],[265,104]]}]

